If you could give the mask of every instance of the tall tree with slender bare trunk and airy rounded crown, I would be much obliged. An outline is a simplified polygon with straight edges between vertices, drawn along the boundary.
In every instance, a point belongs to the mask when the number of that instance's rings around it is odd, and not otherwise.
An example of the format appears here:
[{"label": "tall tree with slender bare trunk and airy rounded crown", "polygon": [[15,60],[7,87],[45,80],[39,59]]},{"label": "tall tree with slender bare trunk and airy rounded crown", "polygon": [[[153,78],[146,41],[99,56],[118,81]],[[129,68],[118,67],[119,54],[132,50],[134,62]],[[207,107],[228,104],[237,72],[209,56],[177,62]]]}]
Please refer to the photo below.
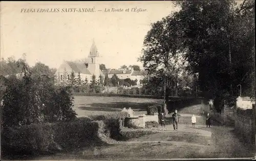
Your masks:
[{"label": "tall tree with slender bare trunk and airy rounded crown", "polygon": [[[150,71],[148,74],[157,74],[159,70],[164,72],[164,113],[167,114],[168,86],[167,75],[174,70],[178,70],[178,60],[181,58],[179,53],[179,39],[176,31],[176,22],[172,16],[167,16],[161,21],[152,25],[144,39],[143,55],[139,58],[143,62],[143,67]],[[177,75],[178,71],[175,71]]]}]

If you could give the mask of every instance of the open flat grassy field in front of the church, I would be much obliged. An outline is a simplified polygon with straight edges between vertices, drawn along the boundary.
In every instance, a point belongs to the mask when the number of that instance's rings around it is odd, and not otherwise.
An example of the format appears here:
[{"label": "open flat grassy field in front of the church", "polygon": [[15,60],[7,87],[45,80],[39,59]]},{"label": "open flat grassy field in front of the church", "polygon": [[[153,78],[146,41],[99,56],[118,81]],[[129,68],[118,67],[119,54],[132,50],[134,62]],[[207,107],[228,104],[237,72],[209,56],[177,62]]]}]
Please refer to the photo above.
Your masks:
[{"label": "open flat grassy field in front of the church", "polygon": [[146,114],[146,107],[163,100],[130,97],[74,96],[74,110],[77,117],[105,114],[131,107],[136,115]]}]

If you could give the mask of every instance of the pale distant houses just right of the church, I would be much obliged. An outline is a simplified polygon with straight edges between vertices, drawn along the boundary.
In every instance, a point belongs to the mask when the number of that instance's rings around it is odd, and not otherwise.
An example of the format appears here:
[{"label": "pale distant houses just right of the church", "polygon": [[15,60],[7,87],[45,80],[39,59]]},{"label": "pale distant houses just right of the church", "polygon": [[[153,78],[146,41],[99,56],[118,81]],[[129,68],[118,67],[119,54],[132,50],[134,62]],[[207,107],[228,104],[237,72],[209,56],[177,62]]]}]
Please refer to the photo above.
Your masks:
[{"label": "pale distant houses just right of the church", "polygon": [[134,71],[133,67],[128,70],[111,70],[109,71],[108,77],[112,78],[113,75],[116,74],[119,79],[127,79],[138,80],[137,84],[140,84],[140,80],[142,80],[146,75],[146,71]]}]

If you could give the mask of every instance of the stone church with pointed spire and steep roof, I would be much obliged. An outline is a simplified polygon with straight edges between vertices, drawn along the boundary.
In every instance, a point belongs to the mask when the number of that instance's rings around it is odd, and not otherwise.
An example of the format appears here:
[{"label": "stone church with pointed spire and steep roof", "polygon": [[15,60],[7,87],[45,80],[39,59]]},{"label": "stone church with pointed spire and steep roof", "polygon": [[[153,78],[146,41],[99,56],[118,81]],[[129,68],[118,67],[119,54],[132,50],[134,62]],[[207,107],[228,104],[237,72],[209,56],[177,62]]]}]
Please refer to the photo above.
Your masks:
[{"label": "stone church with pointed spire and steep roof", "polygon": [[96,76],[96,80],[99,79],[99,76],[102,76],[102,79],[105,78],[105,75],[99,68],[100,65],[100,56],[98,49],[93,40],[93,44],[91,46],[89,55],[88,55],[88,64],[85,62],[73,62],[63,60],[62,64],[56,71],[57,79],[59,83],[66,84],[70,80],[70,74],[74,71],[75,76],[77,78],[78,73],[80,73],[80,77],[82,80],[88,80],[88,83],[91,82],[92,76]]}]

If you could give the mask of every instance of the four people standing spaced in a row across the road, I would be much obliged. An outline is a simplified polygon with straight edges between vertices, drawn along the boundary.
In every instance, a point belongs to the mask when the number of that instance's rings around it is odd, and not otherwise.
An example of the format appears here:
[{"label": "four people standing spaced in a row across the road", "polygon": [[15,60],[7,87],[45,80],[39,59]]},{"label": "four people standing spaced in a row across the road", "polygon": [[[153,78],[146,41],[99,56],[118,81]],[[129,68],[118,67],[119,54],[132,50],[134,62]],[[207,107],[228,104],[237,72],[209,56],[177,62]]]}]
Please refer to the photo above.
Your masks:
[{"label": "four people standing spaced in a row across the road", "polygon": [[[177,109],[174,111],[172,117],[173,117],[174,130],[178,130],[178,123],[179,123],[179,118],[181,117],[181,115],[178,113]],[[160,118],[160,122],[161,122],[161,126],[165,127],[164,120],[165,120],[164,113],[162,113],[161,118]],[[195,114],[193,114],[193,116],[191,117],[192,127],[195,127],[196,123],[197,123],[197,118],[196,118]],[[206,124],[206,127],[210,127],[210,125],[211,125],[210,114],[209,113],[207,113],[205,124]]]}]

